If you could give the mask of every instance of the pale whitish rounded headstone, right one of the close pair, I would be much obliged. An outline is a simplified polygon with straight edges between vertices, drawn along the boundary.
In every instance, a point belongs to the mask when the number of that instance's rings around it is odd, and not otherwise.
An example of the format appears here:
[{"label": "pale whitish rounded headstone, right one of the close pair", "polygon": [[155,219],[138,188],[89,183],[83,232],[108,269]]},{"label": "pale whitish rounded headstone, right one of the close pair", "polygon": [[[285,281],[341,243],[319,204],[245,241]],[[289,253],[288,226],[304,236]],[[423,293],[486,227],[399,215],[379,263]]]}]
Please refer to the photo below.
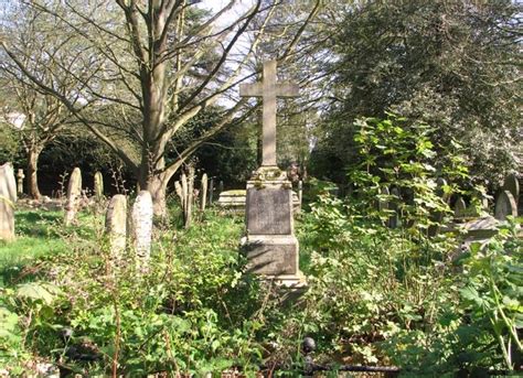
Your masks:
[{"label": "pale whitish rounded headstone, right one of the close pair", "polygon": [[148,191],[141,191],[132,206],[132,240],[138,270],[147,270],[151,256],[152,239],[152,197]]}]

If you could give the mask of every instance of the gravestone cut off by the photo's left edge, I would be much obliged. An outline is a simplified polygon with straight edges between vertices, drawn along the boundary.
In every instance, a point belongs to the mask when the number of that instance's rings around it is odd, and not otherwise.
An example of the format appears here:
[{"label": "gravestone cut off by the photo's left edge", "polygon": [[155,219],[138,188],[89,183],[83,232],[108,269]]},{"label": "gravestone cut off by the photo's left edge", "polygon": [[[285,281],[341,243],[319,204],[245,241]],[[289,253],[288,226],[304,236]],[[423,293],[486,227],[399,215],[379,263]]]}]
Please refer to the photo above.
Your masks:
[{"label": "gravestone cut off by the photo's left edge", "polygon": [[14,239],[17,181],[11,163],[0,165],[0,240]]}]

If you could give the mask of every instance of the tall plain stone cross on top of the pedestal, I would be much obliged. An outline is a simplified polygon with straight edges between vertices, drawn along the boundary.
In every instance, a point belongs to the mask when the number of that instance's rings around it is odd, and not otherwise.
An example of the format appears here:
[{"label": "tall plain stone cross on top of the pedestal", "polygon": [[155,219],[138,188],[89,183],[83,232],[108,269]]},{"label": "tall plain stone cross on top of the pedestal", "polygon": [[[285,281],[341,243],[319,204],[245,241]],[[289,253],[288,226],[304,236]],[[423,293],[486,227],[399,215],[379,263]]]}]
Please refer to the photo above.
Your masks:
[{"label": "tall plain stone cross on top of the pedestal", "polygon": [[239,96],[262,97],[264,101],[262,166],[276,166],[276,98],[297,97],[298,85],[276,82],[276,61],[264,63],[262,83],[241,84]]}]

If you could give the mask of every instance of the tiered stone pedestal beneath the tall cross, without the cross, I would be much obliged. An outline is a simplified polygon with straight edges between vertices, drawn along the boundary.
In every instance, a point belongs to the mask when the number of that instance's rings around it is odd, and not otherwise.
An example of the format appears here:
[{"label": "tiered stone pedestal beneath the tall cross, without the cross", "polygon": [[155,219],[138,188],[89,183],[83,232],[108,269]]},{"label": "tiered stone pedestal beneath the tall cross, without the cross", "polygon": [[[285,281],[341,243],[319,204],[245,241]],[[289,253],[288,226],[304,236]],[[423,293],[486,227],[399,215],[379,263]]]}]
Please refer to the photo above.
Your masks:
[{"label": "tiered stone pedestal beneath the tall cross, without the cross", "polygon": [[277,166],[262,166],[247,182],[244,246],[248,271],[286,288],[305,287],[293,234],[292,185]]}]

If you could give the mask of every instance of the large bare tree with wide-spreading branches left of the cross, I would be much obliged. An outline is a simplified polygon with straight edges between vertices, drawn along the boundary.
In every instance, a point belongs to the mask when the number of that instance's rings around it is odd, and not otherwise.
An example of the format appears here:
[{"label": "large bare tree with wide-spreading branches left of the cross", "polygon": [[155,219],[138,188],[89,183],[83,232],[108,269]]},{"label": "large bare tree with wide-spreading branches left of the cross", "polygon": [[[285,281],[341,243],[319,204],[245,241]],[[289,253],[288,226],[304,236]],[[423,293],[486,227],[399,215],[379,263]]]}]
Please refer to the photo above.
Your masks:
[{"label": "large bare tree with wide-spreading branches left of the cross", "polygon": [[[82,41],[72,67],[45,67],[57,80],[82,67],[82,74],[75,75],[75,90],[60,93],[33,75],[19,46],[3,43],[4,51],[26,77],[58,98],[119,155],[140,187],[151,192],[154,213],[164,215],[171,176],[201,143],[247,111],[234,93],[235,85],[253,75],[244,67],[279,1],[257,0],[246,9],[231,0],[215,12],[186,0],[34,0],[28,6],[60,24],[56,32],[64,36],[60,48],[72,43],[66,35]],[[247,34],[252,37],[244,39]],[[224,98],[234,105],[223,108],[220,121],[167,160],[169,141]],[[110,109],[110,121],[98,108]],[[124,138],[130,143],[120,143]]]}]

